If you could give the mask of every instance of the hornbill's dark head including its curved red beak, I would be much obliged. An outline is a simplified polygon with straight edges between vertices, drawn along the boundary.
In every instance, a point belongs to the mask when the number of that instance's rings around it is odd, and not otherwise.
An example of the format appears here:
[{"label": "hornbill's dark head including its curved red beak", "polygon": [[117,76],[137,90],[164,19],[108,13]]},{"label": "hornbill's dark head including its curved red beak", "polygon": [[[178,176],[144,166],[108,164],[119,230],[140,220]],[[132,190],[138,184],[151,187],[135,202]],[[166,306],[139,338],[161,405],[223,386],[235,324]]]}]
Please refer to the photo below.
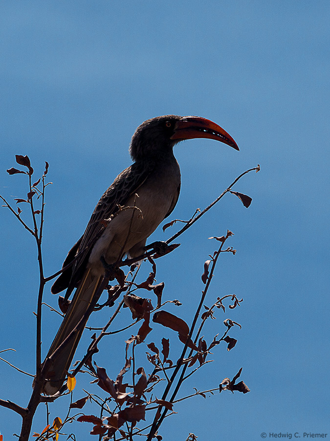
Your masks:
[{"label": "hornbill's dark head including its curved red beak", "polygon": [[162,156],[180,141],[210,138],[239,150],[233,138],[220,125],[196,116],[165,115],[147,120],[132,136],[130,154],[134,161]]}]

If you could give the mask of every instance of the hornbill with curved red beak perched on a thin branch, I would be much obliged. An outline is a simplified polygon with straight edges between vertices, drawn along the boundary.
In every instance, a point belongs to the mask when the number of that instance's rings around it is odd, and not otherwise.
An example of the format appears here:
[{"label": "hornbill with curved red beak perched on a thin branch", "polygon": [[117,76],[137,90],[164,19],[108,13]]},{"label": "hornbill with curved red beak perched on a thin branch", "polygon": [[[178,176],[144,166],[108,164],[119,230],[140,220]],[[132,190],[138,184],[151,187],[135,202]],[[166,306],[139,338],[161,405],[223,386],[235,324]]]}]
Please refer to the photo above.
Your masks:
[{"label": "hornbill with curved red beak perched on a thin branch", "polygon": [[[173,147],[194,138],[217,140],[239,150],[220,125],[197,116],[164,115],[145,121],[135,130],[129,149],[132,165],[101,196],[51,288],[52,294],[66,289],[65,299],[76,290],[44,360],[48,360],[45,394],[53,395],[63,386],[88,319],[84,316],[101,294],[98,291],[106,276],[106,265],[118,264],[125,255],[143,255],[148,237],[174,210],[181,179]],[[137,208],[125,209],[134,206]],[[83,326],[72,333],[82,318]]]}]

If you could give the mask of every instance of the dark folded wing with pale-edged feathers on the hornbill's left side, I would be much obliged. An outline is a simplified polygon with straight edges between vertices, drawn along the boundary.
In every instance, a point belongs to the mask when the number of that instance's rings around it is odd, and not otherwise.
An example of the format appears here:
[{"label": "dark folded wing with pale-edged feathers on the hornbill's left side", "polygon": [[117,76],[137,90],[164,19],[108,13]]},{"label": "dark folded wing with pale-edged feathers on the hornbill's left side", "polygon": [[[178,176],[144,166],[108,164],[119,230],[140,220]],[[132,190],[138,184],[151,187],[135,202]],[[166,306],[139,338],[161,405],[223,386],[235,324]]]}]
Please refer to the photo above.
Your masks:
[{"label": "dark folded wing with pale-edged feathers on the hornbill's left side", "polygon": [[65,265],[68,265],[73,259],[76,261],[54,282],[51,290],[53,294],[57,294],[67,287],[66,298],[71,294],[85,270],[93,245],[106,227],[106,222],[103,221],[110,219],[110,216],[119,210],[119,205],[125,205],[129,197],[137,192],[153,172],[154,166],[153,161],[148,161],[148,163],[134,162],[116,177],[108,190],[101,196],[90,217],[85,233],[69,251]]}]

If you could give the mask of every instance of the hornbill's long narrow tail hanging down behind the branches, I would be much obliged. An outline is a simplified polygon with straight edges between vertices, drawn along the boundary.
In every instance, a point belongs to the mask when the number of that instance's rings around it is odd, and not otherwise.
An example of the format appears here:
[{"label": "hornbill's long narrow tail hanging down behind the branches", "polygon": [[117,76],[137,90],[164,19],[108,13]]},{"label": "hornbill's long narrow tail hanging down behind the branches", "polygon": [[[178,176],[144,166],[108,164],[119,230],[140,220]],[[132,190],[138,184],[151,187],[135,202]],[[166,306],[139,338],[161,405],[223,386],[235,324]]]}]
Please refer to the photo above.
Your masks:
[{"label": "hornbill's long narrow tail hanging down behind the branches", "polygon": [[[46,374],[48,380],[44,384],[44,393],[47,395],[53,395],[61,389],[66,378],[67,370],[70,367],[79,340],[83,334],[89,314],[84,318],[82,326],[79,326],[80,329],[67,339],[60,351],[56,354],[54,354],[54,352],[76,328],[77,324],[87,313],[91,302],[96,302],[98,300],[95,298],[95,293],[98,291],[102,280],[103,276],[92,275],[90,270],[86,270],[84,277],[73,296],[65,318],[63,319],[56,337],[49,348],[47,357],[45,358],[45,360],[47,360],[47,358],[51,359]],[[99,297],[99,295],[97,295],[97,297]]]}]

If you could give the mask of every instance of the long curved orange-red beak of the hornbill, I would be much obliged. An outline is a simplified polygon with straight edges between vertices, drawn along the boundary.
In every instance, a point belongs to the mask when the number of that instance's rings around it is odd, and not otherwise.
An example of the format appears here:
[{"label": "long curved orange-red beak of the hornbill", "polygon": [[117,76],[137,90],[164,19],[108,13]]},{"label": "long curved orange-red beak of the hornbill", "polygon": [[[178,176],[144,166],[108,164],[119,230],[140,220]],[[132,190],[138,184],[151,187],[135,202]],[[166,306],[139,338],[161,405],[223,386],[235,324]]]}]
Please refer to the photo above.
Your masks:
[{"label": "long curved orange-red beak of the hornbill", "polygon": [[210,138],[216,139],[221,143],[228,144],[228,146],[240,150],[234,139],[223,130],[220,125],[213,123],[213,121],[196,116],[182,117],[176,123],[176,128],[171,139],[185,140],[194,138]]}]

